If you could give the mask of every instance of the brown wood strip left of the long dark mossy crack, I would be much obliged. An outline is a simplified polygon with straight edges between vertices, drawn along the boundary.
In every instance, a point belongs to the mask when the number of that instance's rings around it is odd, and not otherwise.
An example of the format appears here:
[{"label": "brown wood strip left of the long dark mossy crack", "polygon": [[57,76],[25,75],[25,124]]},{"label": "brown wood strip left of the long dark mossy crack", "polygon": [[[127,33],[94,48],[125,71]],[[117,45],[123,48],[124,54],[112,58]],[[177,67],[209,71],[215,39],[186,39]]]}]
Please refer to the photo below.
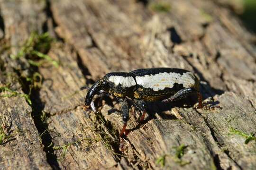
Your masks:
[{"label": "brown wood strip left of the long dark mossy crack", "polygon": [[[0,8],[4,20],[4,38],[9,39],[12,53],[17,54],[18,46],[31,31],[42,31],[46,18],[42,11],[44,3],[1,0]],[[6,46],[5,43],[1,45]],[[9,88],[20,95],[0,98],[0,128],[8,136],[3,138],[5,140],[0,145],[0,169],[51,169],[32,119],[32,108],[22,97],[24,92],[18,76],[11,68],[17,63],[9,59],[8,51],[1,51],[1,60],[6,61],[6,68],[0,70],[0,87],[10,83]],[[9,93],[0,93],[1,96],[5,94]]]}]

